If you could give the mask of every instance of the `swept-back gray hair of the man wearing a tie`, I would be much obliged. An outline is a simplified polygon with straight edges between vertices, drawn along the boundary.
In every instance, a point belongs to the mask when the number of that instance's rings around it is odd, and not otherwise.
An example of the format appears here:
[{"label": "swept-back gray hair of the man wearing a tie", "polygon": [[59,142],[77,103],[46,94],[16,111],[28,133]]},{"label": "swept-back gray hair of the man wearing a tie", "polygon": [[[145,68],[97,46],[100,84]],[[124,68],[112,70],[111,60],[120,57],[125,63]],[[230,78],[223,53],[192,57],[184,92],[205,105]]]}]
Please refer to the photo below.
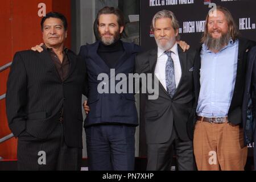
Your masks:
[{"label": "swept-back gray hair of the man wearing a tie", "polygon": [[176,19],[176,16],[174,15],[174,13],[172,13],[172,11],[169,11],[169,10],[162,10],[154,15],[152,22],[151,22],[151,31],[155,30],[156,20],[161,19],[161,18],[170,18],[172,20],[172,28],[174,28],[175,31],[177,29],[179,29],[179,27],[180,27],[179,22]]}]

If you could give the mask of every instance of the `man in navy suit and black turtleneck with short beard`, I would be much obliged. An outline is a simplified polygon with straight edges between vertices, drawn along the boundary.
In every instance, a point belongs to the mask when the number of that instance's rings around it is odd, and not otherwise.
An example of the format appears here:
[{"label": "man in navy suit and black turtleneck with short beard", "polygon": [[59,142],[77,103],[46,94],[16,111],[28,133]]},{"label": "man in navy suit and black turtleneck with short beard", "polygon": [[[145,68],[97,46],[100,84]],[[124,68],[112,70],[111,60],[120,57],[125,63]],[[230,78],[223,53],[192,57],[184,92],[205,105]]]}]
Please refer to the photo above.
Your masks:
[{"label": "man in navy suit and black turtleneck with short beard", "polygon": [[138,126],[134,94],[98,92],[99,84],[109,86],[109,90],[117,84],[110,85],[110,81],[98,80],[101,73],[106,73],[110,78],[113,71],[115,75],[128,75],[134,71],[139,46],[120,40],[124,25],[121,11],[104,7],[97,15],[100,40],[80,49],[89,81],[88,102],[85,105],[90,107],[90,111],[84,125],[89,170],[134,169],[134,134]]}]

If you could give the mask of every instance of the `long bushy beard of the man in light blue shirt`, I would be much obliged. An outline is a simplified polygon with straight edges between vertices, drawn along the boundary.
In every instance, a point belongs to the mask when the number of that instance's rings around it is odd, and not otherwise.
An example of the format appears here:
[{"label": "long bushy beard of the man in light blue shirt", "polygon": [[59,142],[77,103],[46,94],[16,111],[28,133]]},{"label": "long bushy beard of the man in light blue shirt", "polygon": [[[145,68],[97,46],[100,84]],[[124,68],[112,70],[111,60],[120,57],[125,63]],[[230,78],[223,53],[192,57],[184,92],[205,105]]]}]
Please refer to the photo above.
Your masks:
[{"label": "long bushy beard of the man in light blue shirt", "polygon": [[220,38],[213,38],[212,35],[207,33],[207,37],[204,41],[204,44],[208,47],[209,50],[220,51],[224,46],[228,45],[229,40],[231,39],[230,33],[222,34]]}]

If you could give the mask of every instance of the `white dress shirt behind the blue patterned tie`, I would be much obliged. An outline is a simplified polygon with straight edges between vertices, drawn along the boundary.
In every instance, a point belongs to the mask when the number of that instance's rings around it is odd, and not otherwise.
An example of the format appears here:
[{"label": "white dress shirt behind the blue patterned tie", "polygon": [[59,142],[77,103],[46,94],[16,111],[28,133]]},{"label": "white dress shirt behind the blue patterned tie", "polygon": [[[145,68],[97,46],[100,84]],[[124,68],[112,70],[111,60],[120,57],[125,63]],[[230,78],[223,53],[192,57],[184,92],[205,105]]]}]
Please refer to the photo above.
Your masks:
[{"label": "white dress shirt behind the blue patterned tie", "polygon": [[[181,78],[181,65],[180,65],[180,59],[179,59],[179,54],[177,51],[177,43],[169,50],[172,51],[172,60],[174,60],[174,73],[175,73],[175,83],[176,83],[176,88],[179,85],[180,78]],[[158,60],[156,62],[156,67],[155,67],[155,75],[160,81],[160,83],[163,85],[163,87],[167,90],[166,88],[166,62],[168,60],[168,56],[165,51],[160,49],[158,47]]]}]

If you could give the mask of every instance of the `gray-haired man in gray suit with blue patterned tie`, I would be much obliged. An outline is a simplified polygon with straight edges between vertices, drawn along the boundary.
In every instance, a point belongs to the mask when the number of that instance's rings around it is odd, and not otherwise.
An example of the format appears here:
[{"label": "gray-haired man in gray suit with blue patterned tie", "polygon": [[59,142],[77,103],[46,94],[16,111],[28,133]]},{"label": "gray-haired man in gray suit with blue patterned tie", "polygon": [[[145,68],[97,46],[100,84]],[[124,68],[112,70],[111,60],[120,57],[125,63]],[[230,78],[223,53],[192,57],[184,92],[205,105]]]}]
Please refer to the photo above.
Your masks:
[{"label": "gray-haired man in gray suit with blue patterned tie", "polygon": [[[159,96],[146,100],[147,170],[170,170],[176,151],[179,170],[193,170],[193,61],[195,51],[183,52],[179,23],[168,10],[155,14],[151,25],[158,48],[137,55],[135,72],[151,73],[159,80]],[[154,80],[154,79],[151,79]]]}]

